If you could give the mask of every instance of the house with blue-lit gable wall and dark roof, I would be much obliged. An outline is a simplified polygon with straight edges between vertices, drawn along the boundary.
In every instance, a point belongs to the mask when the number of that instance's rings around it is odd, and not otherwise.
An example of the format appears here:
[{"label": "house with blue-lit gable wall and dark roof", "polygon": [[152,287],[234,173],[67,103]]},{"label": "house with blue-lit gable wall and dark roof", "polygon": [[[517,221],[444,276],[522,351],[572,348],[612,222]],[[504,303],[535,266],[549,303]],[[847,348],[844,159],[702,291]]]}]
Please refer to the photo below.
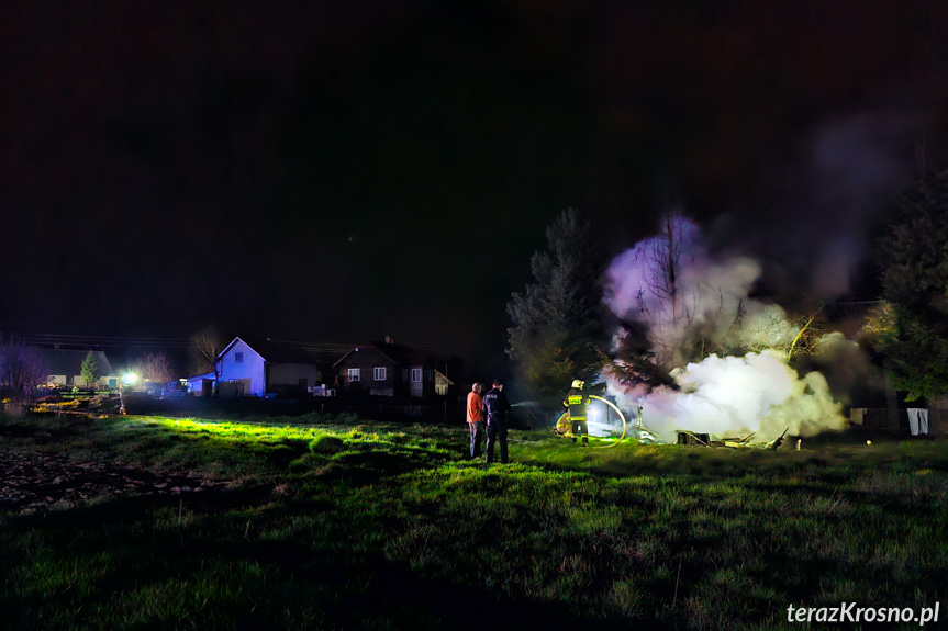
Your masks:
[{"label": "house with blue-lit gable wall and dark roof", "polygon": [[311,354],[295,342],[235,337],[215,361],[218,396],[306,394],[322,380]]}]

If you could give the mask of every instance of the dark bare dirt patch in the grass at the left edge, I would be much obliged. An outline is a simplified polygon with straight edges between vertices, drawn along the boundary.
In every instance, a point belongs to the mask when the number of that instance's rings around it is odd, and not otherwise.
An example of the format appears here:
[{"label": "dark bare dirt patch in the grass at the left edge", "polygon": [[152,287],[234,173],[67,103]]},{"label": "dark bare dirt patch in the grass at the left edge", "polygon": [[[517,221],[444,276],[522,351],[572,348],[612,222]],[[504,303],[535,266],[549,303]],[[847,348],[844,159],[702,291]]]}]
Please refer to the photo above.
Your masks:
[{"label": "dark bare dirt patch in the grass at the left edge", "polygon": [[64,510],[113,497],[185,495],[221,488],[193,472],[155,473],[55,453],[0,451],[0,511]]}]

